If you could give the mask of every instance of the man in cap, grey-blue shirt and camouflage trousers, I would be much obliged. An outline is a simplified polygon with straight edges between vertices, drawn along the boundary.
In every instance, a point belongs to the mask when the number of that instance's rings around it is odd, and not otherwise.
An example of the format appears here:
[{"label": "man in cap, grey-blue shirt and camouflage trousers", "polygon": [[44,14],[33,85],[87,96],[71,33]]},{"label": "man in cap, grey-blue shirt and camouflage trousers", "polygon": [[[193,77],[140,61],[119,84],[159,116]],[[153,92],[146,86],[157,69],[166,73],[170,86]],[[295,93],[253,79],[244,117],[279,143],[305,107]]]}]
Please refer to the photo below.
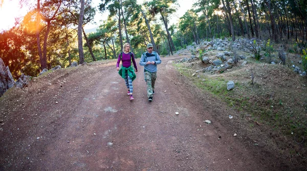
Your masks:
[{"label": "man in cap, grey-blue shirt and camouflage trousers", "polygon": [[155,94],[155,83],[157,78],[157,65],[161,64],[160,56],[153,51],[152,44],[147,44],[147,51],[142,54],[140,65],[144,66],[145,81],[147,84],[148,101],[152,101],[153,94]]}]

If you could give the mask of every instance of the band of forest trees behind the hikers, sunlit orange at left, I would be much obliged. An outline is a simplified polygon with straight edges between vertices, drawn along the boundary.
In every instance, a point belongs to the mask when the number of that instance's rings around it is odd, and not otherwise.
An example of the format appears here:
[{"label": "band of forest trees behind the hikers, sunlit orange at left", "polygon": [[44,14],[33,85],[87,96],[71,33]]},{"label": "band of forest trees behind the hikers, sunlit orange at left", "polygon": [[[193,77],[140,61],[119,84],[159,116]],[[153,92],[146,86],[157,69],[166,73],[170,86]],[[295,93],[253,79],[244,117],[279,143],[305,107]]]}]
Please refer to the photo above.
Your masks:
[{"label": "band of forest trees behind the hikers, sunlit orange at left", "polygon": [[[0,6],[3,4],[0,1]],[[131,44],[137,57],[147,43],[161,55],[201,40],[215,38],[289,42],[302,53],[307,42],[306,0],[195,0],[176,24],[170,18],[177,0],[37,0],[34,6],[20,0],[29,12],[9,30],[0,33],[0,58],[15,79],[21,73],[37,76],[44,68],[62,68],[116,59],[123,43]],[[84,26],[95,15],[109,12],[96,32]],[[288,49],[291,50],[291,49]]]}]

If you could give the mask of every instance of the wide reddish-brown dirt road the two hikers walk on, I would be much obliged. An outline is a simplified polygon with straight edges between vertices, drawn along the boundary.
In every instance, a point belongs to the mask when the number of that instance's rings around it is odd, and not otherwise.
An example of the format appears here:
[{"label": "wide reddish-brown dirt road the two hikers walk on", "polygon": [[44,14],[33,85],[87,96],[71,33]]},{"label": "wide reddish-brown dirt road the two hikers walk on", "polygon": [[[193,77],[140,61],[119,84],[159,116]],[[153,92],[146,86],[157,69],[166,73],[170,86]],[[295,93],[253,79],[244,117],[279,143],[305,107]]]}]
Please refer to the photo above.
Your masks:
[{"label": "wide reddish-brown dirt road the two hikers walk on", "polygon": [[143,67],[129,101],[115,61],[13,90],[0,101],[0,170],[280,170],[216,120],[227,107],[174,69],[180,58],[162,58],[152,102]]}]

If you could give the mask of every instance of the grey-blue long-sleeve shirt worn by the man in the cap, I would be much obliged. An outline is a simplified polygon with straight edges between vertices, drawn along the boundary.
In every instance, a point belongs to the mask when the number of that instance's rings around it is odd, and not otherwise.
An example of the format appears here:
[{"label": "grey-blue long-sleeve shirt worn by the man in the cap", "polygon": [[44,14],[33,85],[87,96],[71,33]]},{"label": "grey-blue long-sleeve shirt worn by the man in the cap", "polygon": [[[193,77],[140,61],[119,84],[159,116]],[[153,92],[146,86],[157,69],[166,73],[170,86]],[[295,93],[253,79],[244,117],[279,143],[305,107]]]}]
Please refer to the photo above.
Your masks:
[{"label": "grey-blue long-sleeve shirt worn by the man in the cap", "polygon": [[[155,61],[155,64],[146,64],[148,61]],[[152,53],[145,52],[141,56],[140,65],[144,66],[144,69],[149,72],[157,72],[157,65],[161,64],[160,56],[157,52],[152,51]]]}]

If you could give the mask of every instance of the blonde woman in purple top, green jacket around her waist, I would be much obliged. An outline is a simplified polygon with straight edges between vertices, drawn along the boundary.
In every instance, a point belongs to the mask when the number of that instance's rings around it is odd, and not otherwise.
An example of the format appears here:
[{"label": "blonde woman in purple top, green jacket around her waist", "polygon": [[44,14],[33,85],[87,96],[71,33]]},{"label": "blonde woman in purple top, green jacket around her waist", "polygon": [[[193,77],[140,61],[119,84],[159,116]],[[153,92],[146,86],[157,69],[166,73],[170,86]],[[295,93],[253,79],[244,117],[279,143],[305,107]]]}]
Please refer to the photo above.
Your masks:
[{"label": "blonde woman in purple top, green jacket around her waist", "polygon": [[[119,63],[122,61],[122,67],[119,68]],[[131,62],[134,65],[131,66]],[[123,52],[119,53],[116,63],[117,71],[119,75],[125,79],[126,87],[128,89],[127,95],[130,95],[130,100],[134,100],[132,81],[137,77],[135,72],[138,72],[137,64],[134,58],[134,54],[130,52],[130,44],[125,43]]]}]

